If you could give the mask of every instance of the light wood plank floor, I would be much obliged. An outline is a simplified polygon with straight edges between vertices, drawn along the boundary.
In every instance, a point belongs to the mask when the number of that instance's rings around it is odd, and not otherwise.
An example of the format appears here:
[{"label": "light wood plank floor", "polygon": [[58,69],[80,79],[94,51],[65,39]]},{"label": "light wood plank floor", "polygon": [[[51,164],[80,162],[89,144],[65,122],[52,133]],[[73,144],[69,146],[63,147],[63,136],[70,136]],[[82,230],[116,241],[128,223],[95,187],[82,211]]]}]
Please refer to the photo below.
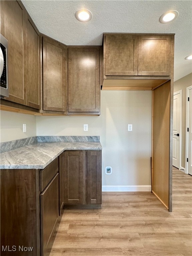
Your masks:
[{"label": "light wood plank floor", "polygon": [[65,209],[50,256],[192,255],[192,176],[173,167],[173,212],[150,192],[103,192],[101,209]]}]

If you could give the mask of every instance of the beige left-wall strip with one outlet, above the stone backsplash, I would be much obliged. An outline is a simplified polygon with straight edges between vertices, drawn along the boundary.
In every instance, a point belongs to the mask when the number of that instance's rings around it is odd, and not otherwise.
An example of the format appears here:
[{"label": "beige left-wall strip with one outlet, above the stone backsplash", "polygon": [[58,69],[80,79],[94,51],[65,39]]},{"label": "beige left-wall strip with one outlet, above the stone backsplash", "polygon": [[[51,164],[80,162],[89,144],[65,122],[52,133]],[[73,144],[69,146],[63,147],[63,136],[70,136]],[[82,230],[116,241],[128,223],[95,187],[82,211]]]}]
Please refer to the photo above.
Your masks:
[{"label": "beige left-wall strip with one outlet, above the stone backsplash", "polygon": [[[23,132],[23,124],[27,132]],[[0,142],[36,136],[36,116],[0,111]]]}]

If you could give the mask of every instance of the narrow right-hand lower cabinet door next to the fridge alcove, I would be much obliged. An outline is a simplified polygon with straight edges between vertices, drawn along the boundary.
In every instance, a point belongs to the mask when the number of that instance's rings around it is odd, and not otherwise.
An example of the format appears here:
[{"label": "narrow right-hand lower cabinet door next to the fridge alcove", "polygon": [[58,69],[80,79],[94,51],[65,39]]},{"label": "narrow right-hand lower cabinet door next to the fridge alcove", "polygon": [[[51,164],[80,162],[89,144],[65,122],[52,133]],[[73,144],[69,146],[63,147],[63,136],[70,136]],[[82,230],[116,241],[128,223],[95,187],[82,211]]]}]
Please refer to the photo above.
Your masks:
[{"label": "narrow right-hand lower cabinet door next to the fridge alcove", "polygon": [[87,203],[101,204],[101,151],[87,151]]}]

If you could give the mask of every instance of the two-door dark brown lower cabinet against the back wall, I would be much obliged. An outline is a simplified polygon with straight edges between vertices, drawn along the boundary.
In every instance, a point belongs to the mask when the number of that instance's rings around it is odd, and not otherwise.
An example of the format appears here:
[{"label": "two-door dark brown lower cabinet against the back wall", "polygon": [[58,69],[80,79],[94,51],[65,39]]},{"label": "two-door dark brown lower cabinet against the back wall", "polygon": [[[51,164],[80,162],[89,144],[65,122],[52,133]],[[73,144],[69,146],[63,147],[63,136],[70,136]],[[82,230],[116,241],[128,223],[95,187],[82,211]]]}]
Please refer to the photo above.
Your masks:
[{"label": "two-door dark brown lower cabinet against the back wall", "polygon": [[100,207],[101,150],[64,152],[64,207]]}]

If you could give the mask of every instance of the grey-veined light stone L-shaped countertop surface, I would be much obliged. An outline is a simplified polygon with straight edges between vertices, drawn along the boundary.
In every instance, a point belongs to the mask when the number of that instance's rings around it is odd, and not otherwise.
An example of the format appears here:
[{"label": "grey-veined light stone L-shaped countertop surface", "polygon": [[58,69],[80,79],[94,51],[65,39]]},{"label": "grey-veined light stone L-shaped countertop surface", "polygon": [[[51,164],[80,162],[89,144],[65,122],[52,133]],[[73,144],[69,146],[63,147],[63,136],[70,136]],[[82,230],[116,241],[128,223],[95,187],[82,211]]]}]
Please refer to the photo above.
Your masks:
[{"label": "grey-veined light stone L-shaped countertop surface", "polygon": [[100,142],[37,142],[0,154],[0,169],[44,169],[65,150],[101,150]]}]

